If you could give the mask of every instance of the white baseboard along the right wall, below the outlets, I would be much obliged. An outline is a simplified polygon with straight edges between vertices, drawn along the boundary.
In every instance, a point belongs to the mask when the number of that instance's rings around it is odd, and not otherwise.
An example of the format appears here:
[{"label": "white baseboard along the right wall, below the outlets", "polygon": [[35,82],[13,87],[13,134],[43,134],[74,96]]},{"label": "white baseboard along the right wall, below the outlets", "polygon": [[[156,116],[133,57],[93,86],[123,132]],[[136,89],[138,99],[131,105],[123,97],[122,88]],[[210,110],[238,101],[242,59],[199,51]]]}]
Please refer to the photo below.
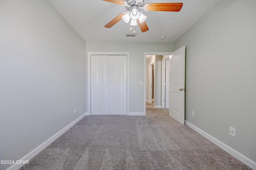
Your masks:
[{"label": "white baseboard along the right wall, below the outlets", "polygon": [[202,131],[201,129],[199,129],[195,125],[192,125],[188,121],[185,121],[185,124],[188,125],[188,127],[193,129],[194,131],[196,131],[197,133],[199,133],[200,135],[202,135],[203,137],[205,137],[206,139],[208,139],[209,141],[211,141],[212,143],[214,143],[215,145],[217,145],[218,147],[220,147],[221,149],[225,150],[226,152],[228,152],[229,154],[231,154],[232,156],[234,156],[235,158],[237,158],[238,160],[240,160],[241,162],[243,162],[244,164],[246,164],[247,166],[252,168],[253,170],[256,170],[256,162],[254,162],[250,158],[247,158],[246,156],[244,156],[240,152],[234,150],[233,148],[229,147],[228,145],[226,145],[222,141],[219,141],[215,137],[213,137],[213,136],[209,135],[208,133]]}]

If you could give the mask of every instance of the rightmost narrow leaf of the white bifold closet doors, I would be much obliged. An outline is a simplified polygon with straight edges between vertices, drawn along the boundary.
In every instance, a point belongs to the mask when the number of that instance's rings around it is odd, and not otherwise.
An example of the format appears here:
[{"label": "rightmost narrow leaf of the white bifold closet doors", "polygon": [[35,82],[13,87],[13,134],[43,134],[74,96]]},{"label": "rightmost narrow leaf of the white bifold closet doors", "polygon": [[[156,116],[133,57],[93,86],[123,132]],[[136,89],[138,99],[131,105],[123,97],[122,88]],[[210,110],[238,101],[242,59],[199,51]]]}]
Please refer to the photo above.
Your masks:
[{"label": "rightmost narrow leaf of the white bifold closet doors", "polygon": [[118,115],[127,114],[127,56],[118,56]]}]

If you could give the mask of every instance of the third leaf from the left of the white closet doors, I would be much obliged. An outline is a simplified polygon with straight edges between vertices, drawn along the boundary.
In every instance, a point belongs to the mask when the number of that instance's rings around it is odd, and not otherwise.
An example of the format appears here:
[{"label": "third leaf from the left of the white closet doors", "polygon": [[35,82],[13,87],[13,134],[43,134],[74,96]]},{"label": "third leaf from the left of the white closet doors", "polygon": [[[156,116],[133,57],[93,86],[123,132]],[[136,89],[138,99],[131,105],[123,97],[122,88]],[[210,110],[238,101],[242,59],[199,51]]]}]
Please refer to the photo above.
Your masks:
[{"label": "third leaf from the left of the white closet doors", "polygon": [[118,56],[109,56],[109,114],[118,114]]}]

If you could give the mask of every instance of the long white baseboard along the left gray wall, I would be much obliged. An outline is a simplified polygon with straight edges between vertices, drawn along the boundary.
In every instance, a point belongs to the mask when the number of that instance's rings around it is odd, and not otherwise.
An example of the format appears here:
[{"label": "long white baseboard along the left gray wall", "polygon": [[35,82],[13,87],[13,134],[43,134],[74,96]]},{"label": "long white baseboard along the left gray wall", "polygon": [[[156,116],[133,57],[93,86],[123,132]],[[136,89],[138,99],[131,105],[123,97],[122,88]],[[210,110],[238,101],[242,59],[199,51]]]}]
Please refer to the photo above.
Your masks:
[{"label": "long white baseboard along the left gray wall", "polygon": [[[39,152],[41,152],[43,149],[45,149],[48,145],[50,145],[53,141],[55,141],[58,137],[60,137],[63,133],[65,133],[68,129],[70,129],[70,127],[72,127],[73,125],[75,125],[78,121],[80,121],[86,113],[82,114],[80,117],[78,117],[76,120],[72,121],[69,125],[67,125],[66,127],[64,127],[63,129],[61,129],[60,131],[58,131],[56,134],[54,134],[52,137],[50,137],[49,139],[47,139],[44,143],[42,143],[41,145],[39,145],[38,147],[36,147],[35,149],[33,149],[31,152],[29,152],[28,154],[26,154],[25,156],[23,156],[22,158],[20,158],[19,160],[31,160],[32,158],[34,158],[34,156],[36,156]],[[10,166],[9,168],[7,168],[6,170],[18,170],[19,168],[21,168],[24,164],[13,164],[12,166]]]}]

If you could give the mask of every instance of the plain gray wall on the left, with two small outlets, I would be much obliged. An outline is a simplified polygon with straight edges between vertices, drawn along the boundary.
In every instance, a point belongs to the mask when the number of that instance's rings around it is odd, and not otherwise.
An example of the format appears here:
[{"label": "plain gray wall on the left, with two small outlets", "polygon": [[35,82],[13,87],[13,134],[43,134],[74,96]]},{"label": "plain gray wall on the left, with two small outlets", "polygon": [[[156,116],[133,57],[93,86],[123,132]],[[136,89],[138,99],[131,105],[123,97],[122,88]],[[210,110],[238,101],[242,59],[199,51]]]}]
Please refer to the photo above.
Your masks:
[{"label": "plain gray wall on the left, with two small outlets", "polygon": [[1,0],[0,25],[0,160],[19,160],[85,113],[86,44],[44,0]]}]

